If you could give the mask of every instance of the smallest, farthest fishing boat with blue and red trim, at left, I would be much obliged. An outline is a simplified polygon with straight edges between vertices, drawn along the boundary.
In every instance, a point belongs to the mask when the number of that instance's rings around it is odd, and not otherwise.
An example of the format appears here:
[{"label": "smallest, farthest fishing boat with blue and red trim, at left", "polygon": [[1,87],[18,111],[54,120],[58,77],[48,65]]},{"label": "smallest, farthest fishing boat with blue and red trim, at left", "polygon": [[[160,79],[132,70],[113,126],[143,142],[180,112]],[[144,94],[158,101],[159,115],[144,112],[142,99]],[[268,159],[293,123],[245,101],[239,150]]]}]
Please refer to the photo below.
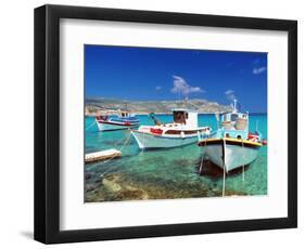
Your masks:
[{"label": "smallest, farthest fishing boat with blue and red trim, at left", "polygon": [[119,109],[96,117],[96,122],[100,131],[124,130],[139,126],[139,119],[135,115]]}]

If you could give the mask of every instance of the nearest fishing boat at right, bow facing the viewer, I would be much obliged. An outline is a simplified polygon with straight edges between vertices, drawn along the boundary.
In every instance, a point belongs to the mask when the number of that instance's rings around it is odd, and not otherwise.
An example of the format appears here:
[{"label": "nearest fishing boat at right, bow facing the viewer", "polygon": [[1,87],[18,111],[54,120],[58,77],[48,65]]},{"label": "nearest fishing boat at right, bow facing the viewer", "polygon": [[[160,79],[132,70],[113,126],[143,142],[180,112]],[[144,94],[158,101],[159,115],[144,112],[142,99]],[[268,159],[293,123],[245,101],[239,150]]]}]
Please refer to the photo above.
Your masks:
[{"label": "nearest fishing boat at right, bow facing the viewer", "polygon": [[233,109],[219,116],[219,128],[209,137],[201,139],[198,143],[203,148],[203,155],[226,172],[253,162],[266,140],[259,131],[249,131],[249,113]]}]

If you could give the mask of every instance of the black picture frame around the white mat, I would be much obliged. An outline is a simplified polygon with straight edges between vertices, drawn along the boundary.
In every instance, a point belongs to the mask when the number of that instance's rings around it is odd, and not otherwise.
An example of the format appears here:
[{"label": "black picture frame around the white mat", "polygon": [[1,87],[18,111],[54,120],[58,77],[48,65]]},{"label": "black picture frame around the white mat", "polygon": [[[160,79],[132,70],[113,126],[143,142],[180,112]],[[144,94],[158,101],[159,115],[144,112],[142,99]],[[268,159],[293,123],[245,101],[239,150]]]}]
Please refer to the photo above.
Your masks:
[{"label": "black picture frame around the white mat", "polygon": [[[60,19],[118,21],[288,31],[288,217],[60,231]],[[136,10],[35,9],[35,239],[45,244],[290,228],[297,226],[297,22]]]}]

